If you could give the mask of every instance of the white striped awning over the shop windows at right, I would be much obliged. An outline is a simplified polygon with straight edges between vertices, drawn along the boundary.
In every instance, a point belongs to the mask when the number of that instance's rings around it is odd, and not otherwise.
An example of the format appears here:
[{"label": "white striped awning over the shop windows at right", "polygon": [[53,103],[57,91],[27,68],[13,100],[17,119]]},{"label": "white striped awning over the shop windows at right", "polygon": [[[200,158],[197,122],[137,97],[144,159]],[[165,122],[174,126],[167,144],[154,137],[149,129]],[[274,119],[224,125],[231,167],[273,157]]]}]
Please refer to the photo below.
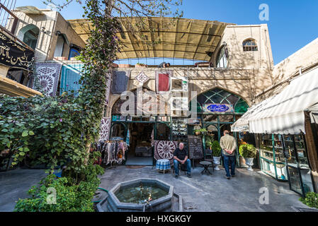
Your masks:
[{"label": "white striped awning over the shop windows at right", "polygon": [[298,76],[281,93],[251,107],[232,125],[250,133],[305,133],[305,113],[318,102],[318,68]]}]

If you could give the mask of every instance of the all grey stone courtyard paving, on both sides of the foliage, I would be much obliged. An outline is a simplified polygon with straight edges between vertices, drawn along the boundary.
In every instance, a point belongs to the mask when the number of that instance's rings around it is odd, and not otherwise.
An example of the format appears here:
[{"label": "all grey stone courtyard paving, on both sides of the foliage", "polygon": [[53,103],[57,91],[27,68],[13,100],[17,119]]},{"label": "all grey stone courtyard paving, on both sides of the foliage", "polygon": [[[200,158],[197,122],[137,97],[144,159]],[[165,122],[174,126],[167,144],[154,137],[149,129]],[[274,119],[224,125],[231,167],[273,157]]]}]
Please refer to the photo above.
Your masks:
[{"label": "all grey stone courtyard paving, on both sides of the foliage", "polygon": [[[212,172],[212,169],[210,169]],[[215,171],[212,176],[202,175],[202,168],[193,169],[193,178],[189,179],[181,173],[175,179],[172,173],[161,174],[152,167],[131,169],[118,166],[115,169],[106,169],[101,176],[103,189],[110,190],[119,182],[137,178],[155,178],[174,186],[175,192],[183,197],[184,211],[293,211],[292,206],[307,208],[293,191],[289,190],[288,183],[277,182],[275,179],[261,174],[248,172],[246,169],[237,169],[237,177],[227,180],[224,169]],[[38,184],[45,177],[42,169],[15,169],[0,172],[0,211],[13,211],[18,198],[28,197],[28,189]],[[259,203],[259,189],[268,187],[269,205]],[[100,199],[106,194],[101,191]]]}]

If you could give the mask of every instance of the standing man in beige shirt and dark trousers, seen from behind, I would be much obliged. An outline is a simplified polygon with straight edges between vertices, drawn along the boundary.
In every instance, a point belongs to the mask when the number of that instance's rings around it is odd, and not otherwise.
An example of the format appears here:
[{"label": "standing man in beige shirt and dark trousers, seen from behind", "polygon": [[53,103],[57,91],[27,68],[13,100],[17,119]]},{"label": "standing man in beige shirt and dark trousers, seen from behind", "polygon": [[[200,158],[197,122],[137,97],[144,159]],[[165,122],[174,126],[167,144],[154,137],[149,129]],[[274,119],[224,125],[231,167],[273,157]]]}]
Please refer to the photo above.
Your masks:
[{"label": "standing man in beige shirt and dark trousers, seen from behind", "polygon": [[[224,136],[220,140],[222,155],[224,160],[226,178],[235,177],[235,150],[237,150],[237,141],[233,136],[229,136],[229,131],[224,131]],[[229,174],[229,164],[231,165],[231,174]]]}]

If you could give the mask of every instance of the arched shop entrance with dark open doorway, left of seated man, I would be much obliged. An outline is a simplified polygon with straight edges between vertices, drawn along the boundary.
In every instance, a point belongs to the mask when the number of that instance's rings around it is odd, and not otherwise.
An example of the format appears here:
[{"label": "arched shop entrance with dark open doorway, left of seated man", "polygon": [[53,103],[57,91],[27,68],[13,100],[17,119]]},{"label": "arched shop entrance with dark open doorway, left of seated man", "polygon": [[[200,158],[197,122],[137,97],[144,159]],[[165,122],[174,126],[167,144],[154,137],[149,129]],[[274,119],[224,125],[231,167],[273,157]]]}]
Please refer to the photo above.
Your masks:
[{"label": "arched shop entrance with dark open doorway, left of seated man", "polygon": [[[147,88],[143,89],[143,93],[150,91]],[[137,116],[137,90],[132,90],[135,95],[134,109],[126,108],[129,112],[134,112],[133,115],[123,116],[120,111],[126,100],[115,102],[112,107],[112,130],[110,131],[110,139],[115,139],[112,135],[117,136],[119,129],[115,124],[125,125],[125,133],[121,133],[123,140],[129,143],[129,150],[126,157],[126,165],[153,165],[154,151],[152,141],[170,141],[171,139],[171,117],[159,117],[157,115]],[[147,102],[152,102],[151,98],[145,98],[143,105]],[[157,103],[158,104],[158,103]],[[152,103],[154,106],[155,103]],[[158,106],[159,109],[159,106]]]}]

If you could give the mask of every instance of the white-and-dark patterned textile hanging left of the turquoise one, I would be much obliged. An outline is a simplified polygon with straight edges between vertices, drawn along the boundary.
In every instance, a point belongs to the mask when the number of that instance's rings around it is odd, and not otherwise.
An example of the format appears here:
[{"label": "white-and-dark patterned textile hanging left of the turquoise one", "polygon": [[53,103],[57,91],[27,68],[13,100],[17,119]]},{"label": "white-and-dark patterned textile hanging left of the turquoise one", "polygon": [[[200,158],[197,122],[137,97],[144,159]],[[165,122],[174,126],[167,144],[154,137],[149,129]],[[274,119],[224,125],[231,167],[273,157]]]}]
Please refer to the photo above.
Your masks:
[{"label": "white-and-dark patterned textile hanging left of the turquoise one", "polygon": [[54,97],[57,93],[61,68],[62,64],[35,63],[35,73],[38,76],[38,81],[33,85],[33,89]]}]

